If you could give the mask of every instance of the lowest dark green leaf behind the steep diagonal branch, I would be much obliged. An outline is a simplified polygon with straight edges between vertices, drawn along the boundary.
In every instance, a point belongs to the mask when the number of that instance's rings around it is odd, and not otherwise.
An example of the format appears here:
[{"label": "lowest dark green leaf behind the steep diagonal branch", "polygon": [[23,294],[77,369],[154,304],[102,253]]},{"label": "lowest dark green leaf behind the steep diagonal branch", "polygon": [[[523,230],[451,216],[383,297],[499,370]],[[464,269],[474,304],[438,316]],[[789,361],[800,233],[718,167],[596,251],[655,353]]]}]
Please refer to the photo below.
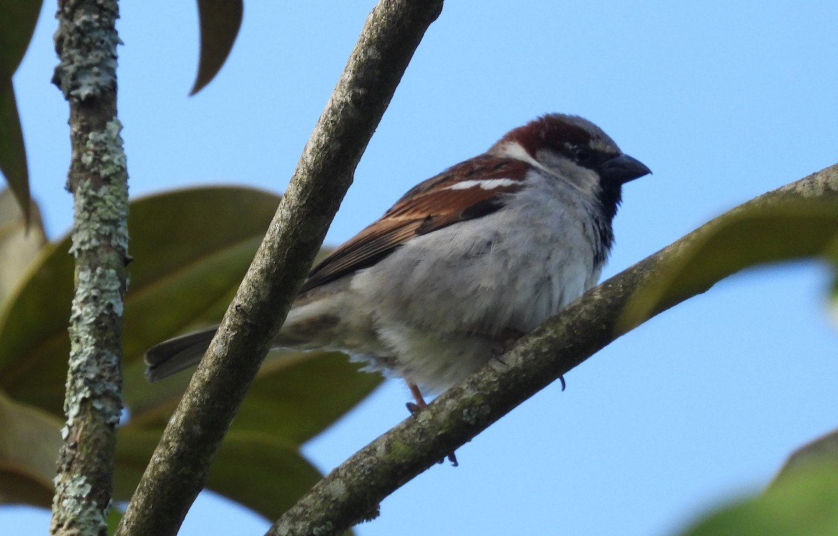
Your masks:
[{"label": "lowest dark green leaf behind the steep diagonal branch", "polygon": [[[137,487],[158,430],[122,428],[116,438],[114,497],[125,501]],[[230,430],[209,469],[207,488],[278,518],[320,479],[297,446],[271,435]]]}]

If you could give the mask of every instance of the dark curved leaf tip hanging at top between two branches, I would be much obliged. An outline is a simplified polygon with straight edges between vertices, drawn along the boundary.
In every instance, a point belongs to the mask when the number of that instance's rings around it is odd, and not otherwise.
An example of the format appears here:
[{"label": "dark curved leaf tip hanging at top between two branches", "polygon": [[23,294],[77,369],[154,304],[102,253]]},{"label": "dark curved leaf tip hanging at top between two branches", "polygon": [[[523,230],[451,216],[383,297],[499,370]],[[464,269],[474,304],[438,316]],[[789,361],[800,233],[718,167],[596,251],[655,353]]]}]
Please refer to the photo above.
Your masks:
[{"label": "dark curved leaf tip hanging at top between two branches", "polygon": [[209,84],[224,64],[241,27],[241,0],[198,0],[201,27],[201,55],[198,76],[189,95]]}]

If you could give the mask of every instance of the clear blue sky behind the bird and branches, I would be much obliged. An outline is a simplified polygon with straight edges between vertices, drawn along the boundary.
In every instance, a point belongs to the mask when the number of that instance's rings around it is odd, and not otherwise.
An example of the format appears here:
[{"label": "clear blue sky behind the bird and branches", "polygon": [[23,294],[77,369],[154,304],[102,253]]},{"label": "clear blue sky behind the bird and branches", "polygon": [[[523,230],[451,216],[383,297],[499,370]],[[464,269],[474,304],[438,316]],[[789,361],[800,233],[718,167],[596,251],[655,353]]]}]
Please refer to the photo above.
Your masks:
[{"label": "clear blue sky behind the bird and branches", "polygon": [[[188,98],[193,2],[123,2],[119,114],[132,196],[204,183],[281,192],[374,2],[251,2],[219,77]],[[671,5],[670,5],[671,4]],[[654,175],[630,183],[604,276],[838,161],[838,4],[448,2],[355,174],[328,243],[406,189],[549,111],[602,126]],[[70,226],[54,3],[14,78],[34,197]],[[825,266],[747,271],[620,338],[381,504],[361,536],[672,534],[763,487],[838,426]],[[308,446],[328,471],[406,417],[389,381]],[[205,494],[204,494],[205,495]],[[268,523],[199,497],[182,534]],[[3,533],[49,514],[0,508]]]}]

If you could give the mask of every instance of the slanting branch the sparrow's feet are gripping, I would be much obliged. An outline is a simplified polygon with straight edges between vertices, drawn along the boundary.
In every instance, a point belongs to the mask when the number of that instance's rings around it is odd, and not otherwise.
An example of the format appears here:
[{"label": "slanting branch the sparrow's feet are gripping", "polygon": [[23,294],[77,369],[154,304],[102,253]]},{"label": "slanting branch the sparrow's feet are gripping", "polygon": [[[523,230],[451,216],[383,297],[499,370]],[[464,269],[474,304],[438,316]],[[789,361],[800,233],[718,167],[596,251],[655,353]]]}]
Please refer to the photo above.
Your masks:
[{"label": "slanting branch the sparrow's feet are gripping", "polygon": [[838,198],[838,165],[740,205],[587,291],[522,338],[504,354],[503,363],[489,362],[344,461],[267,534],[341,533],[355,523],[375,518],[384,497],[471,441],[525,399],[640,323],[708,290],[712,283],[681,288],[678,296],[667,296],[643,317],[623,317],[634,293],[653,281],[696,237],[731,214],[800,198]]}]

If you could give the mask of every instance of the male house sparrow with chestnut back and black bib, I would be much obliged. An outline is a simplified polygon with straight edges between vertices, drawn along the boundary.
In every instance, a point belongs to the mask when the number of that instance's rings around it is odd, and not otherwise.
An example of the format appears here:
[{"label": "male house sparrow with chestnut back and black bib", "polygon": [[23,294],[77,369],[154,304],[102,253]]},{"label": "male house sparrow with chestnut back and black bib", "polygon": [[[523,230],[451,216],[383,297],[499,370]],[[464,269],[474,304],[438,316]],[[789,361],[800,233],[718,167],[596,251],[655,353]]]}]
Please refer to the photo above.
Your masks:
[{"label": "male house sparrow with chestnut back and black bib", "polygon": [[[425,405],[597,283],[623,183],[647,173],[582,117],[520,126],[315,265],[274,344],[349,353]],[[214,334],[149,349],[147,378],[198,363]]]}]

